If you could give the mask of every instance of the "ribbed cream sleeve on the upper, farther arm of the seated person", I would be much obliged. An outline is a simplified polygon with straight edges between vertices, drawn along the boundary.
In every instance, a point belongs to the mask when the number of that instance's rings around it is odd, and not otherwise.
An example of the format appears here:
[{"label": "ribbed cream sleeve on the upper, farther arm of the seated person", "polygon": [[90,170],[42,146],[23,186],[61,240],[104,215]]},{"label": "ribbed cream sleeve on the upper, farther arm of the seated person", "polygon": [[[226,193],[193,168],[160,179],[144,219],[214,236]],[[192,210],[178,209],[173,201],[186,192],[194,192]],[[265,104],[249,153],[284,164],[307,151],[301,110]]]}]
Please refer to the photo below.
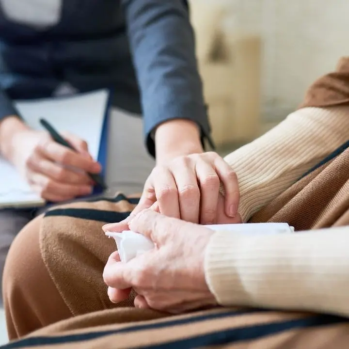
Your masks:
[{"label": "ribbed cream sleeve on the upper, farther arm of the seated person", "polygon": [[[304,108],[228,155],[244,222],[349,139],[349,107]],[[224,193],[224,189],[221,189]]]}]

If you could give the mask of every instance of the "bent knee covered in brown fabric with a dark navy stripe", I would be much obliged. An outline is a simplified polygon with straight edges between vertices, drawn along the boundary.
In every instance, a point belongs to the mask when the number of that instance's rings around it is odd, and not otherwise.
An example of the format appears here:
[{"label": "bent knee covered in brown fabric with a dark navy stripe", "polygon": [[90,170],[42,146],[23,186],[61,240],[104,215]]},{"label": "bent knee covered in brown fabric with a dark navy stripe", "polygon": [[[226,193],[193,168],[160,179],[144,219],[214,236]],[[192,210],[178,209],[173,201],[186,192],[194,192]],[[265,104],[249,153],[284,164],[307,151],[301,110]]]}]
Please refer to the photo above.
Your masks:
[{"label": "bent knee covered in brown fabric with a dark navy stripe", "polygon": [[116,244],[102,225],[126,218],[137,202],[118,195],[53,207],[20,232],[4,273],[11,338],[62,318],[133,306],[133,292],[118,304],[108,298],[102,273]]}]

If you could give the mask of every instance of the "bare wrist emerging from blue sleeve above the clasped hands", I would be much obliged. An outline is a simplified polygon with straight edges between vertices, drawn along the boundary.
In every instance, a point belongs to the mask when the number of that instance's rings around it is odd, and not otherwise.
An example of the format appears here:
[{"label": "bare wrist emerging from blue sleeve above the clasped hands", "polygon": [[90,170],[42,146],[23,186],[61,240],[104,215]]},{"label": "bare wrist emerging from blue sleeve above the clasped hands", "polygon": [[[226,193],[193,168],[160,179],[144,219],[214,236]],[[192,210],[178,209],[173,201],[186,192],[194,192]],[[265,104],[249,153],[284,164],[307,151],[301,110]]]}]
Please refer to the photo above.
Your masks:
[{"label": "bare wrist emerging from blue sleeve above the clasped hands", "polygon": [[200,128],[190,120],[175,119],[159,125],[155,131],[157,163],[178,156],[202,153]]}]

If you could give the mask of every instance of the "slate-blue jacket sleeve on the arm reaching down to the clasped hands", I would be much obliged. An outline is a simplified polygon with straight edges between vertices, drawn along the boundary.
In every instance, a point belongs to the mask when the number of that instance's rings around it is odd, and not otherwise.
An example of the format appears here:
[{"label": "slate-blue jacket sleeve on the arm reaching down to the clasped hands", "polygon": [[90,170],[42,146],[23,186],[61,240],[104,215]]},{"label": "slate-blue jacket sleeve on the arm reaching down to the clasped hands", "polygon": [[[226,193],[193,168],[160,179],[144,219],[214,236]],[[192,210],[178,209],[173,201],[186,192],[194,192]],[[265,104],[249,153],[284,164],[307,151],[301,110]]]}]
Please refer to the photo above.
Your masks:
[{"label": "slate-blue jacket sleeve on the arm reaching down to the clasped hands", "polygon": [[149,152],[155,155],[154,130],[172,120],[192,121],[202,138],[209,138],[187,1],[123,0],[122,3],[142,92]]}]

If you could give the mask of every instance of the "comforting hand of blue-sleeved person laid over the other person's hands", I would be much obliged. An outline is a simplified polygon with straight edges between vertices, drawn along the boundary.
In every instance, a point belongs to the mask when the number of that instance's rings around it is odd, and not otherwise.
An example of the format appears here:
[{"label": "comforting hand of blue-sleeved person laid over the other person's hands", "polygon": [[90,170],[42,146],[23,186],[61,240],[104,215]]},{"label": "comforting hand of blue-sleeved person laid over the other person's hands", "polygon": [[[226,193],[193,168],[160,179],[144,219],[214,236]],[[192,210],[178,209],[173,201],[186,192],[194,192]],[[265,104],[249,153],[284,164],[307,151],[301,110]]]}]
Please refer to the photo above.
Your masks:
[{"label": "comforting hand of blue-sleeved person laid over the other person's hands", "polygon": [[[225,203],[218,211],[220,181],[225,188]],[[148,177],[137,214],[157,202],[159,212],[187,222],[216,224],[222,214],[237,216],[238,179],[231,167],[216,153],[191,154],[158,165]],[[218,219],[220,216],[220,219]]]}]

